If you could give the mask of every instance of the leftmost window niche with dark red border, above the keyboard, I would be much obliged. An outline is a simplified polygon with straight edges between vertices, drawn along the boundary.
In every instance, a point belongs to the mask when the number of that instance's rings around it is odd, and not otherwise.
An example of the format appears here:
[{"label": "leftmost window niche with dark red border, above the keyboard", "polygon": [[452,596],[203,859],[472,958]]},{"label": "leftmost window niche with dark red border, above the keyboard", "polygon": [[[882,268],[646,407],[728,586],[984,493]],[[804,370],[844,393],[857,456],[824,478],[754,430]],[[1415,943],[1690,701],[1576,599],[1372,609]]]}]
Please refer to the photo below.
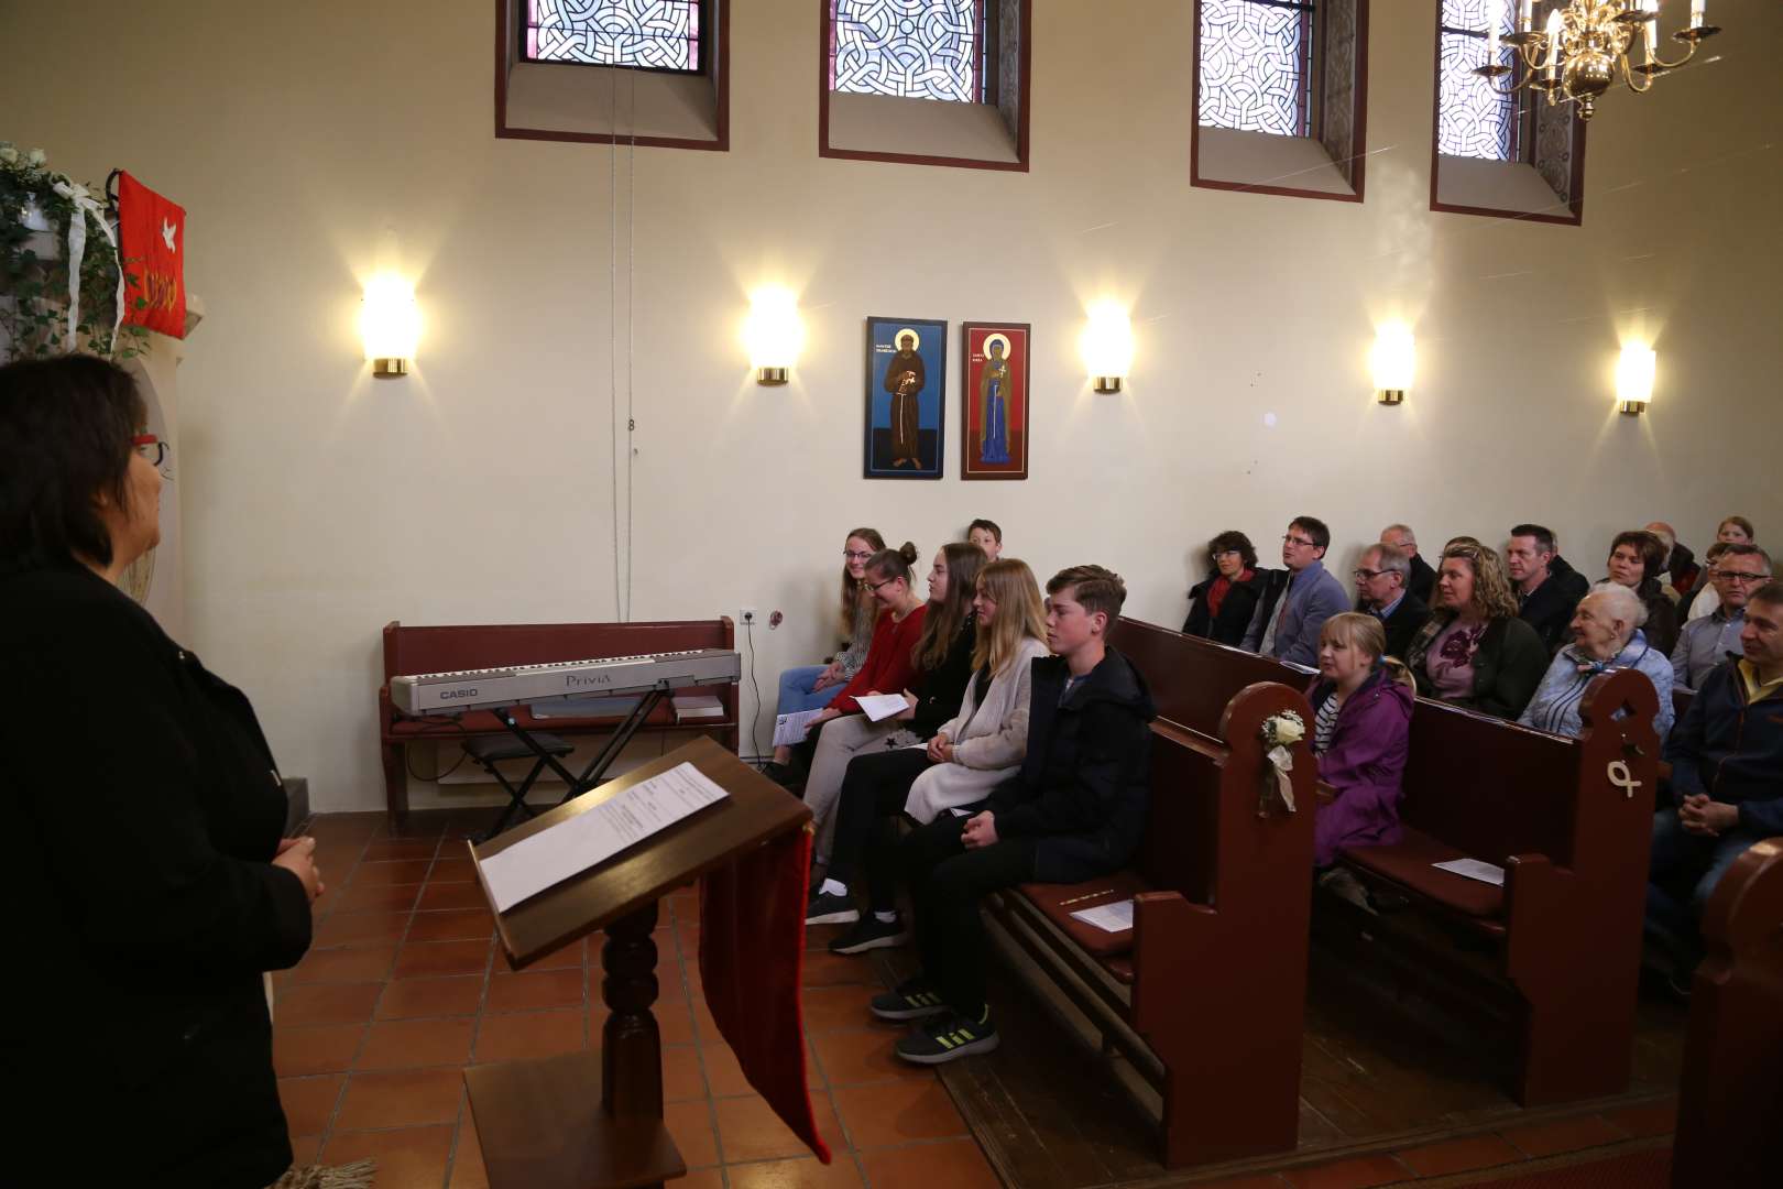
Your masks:
[{"label": "leftmost window niche with dark red border, above the keyboard", "polygon": [[731,0],[496,0],[496,135],[729,148]]}]

